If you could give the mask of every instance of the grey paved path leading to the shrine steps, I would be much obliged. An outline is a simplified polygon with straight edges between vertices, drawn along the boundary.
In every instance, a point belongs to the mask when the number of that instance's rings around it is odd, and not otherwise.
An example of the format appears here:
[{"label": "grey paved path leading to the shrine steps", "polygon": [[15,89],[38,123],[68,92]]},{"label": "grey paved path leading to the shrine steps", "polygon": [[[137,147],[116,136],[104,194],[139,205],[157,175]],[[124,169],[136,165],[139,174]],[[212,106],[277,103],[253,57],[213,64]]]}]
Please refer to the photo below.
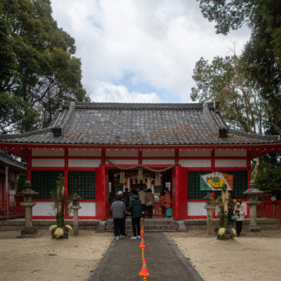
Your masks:
[{"label": "grey paved path leading to the shrine steps", "polygon": [[[144,233],[148,281],[203,281],[166,233]],[[141,281],[141,239],[112,240],[89,281]]]}]

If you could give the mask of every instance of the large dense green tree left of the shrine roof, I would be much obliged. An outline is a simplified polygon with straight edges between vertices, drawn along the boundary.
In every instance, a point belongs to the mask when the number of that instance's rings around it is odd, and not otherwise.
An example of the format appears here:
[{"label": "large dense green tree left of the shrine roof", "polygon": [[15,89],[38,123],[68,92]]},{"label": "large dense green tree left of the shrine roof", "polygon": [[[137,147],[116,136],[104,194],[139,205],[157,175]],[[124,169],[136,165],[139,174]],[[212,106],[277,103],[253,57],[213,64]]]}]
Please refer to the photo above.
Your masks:
[{"label": "large dense green tree left of the shrine roof", "polygon": [[0,77],[1,133],[47,126],[58,98],[89,100],[75,41],[53,20],[51,2],[0,0],[0,7],[5,22],[0,48],[6,48],[7,62]]}]

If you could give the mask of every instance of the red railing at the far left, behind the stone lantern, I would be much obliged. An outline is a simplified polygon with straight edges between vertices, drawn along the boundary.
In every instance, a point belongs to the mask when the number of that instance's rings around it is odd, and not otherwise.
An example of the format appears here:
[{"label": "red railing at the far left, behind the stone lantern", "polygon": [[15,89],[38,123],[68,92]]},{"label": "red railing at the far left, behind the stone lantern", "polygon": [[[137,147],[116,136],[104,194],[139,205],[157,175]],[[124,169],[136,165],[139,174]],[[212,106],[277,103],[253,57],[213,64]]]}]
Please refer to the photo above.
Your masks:
[{"label": "red railing at the far left, behind the stone lantern", "polygon": [[25,208],[20,205],[23,195],[9,195],[9,200],[0,200],[0,216],[21,216]]}]

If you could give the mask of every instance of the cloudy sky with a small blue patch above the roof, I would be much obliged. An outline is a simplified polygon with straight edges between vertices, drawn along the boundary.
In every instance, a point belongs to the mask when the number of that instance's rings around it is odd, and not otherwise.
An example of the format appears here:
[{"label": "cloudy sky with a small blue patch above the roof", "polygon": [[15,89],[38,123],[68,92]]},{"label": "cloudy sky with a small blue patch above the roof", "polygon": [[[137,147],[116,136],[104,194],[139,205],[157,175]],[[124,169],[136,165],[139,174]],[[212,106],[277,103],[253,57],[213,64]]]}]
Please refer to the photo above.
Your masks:
[{"label": "cloudy sky with a small blue patch above the roof", "polygon": [[240,54],[249,39],[246,28],[216,34],[196,0],[51,2],[76,41],[92,102],[189,103],[197,60]]}]

